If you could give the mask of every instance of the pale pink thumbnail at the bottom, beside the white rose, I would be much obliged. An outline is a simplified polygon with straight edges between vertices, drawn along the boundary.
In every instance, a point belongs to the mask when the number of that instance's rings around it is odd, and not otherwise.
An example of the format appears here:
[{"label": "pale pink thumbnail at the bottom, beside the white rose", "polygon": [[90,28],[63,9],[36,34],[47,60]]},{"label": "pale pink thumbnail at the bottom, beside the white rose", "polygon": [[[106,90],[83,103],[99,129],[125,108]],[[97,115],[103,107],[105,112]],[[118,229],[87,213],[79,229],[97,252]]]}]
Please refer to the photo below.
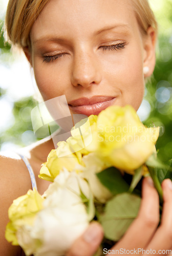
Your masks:
[{"label": "pale pink thumbnail at the bottom, beside the white rose", "polygon": [[90,227],[84,232],[83,239],[87,243],[94,243],[99,240],[100,228],[96,223],[90,225]]}]

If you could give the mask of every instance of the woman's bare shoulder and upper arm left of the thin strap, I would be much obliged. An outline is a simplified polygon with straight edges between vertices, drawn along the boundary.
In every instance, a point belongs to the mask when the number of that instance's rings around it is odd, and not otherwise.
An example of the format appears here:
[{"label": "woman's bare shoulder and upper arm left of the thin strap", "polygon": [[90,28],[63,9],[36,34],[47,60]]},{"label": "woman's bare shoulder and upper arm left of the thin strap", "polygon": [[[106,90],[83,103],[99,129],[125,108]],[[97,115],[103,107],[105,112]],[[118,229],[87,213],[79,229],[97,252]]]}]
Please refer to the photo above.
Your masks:
[{"label": "woman's bare shoulder and upper arm left of the thin strap", "polygon": [[31,181],[26,165],[13,153],[0,154],[0,255],[19,255],[20,248],[11,246],[5,240],[5,228],[8,219],[8,208],[13,200],[27,193]]}]

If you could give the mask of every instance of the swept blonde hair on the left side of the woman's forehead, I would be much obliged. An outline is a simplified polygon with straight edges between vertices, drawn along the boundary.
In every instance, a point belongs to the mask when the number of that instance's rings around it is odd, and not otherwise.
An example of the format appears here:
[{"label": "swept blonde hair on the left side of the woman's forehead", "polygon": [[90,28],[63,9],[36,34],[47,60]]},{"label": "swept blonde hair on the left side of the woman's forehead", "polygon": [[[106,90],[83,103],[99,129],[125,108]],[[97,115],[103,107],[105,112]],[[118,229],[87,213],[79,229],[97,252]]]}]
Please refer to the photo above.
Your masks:
[{"label": "swept blonde hair on the left side of the woman's forehead", "polygon": [[9,0],[5,20],[6,39],[22,48],[29,46],[31,28],[49,1]]}]

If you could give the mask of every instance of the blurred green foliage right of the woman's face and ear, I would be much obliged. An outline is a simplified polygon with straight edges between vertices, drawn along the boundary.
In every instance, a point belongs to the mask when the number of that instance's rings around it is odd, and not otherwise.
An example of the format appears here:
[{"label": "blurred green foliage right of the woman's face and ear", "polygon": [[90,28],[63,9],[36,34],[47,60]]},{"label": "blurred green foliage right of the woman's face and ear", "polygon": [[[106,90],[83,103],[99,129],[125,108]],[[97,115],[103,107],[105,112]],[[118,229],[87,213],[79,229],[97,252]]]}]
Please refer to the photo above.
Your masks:
[{"label": "blurred green foliage right of the woman's face and ear", "polygon": [[168,160],[172,158],[172,2],[165,0],[155,3],[162,5],[156,12],[159,41],[154,75],[146,86],[145,99],[150,103],[151,111],[144,123],[161,127],[157,149],[159,157]]}]

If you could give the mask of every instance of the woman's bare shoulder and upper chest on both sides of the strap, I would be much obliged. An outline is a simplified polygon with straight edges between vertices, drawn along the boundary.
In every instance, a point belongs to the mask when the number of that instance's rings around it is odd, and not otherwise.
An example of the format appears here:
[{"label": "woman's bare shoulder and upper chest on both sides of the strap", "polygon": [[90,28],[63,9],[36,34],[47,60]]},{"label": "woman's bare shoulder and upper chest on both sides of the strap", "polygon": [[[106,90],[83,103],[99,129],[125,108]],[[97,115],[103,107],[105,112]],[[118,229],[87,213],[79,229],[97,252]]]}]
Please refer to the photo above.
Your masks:
[{"label": "woman's bare shoulder and upper chest on both sides of the strap", "polygon": [[[41,164],[46,161],[52,149],[50,140],[42,140],[31,147],[22,148],[20,154],[29,161],[37,183],[40,194],[48,188],[50,182],[38,178]],[[8,219],[8,208],[13,200],[23,196],[32,189],[31,178],[25,162],[19,155],[13,152],[0,153],[0,255],[20,255],[20,247],[12,246],[5,240],[5,228]]]}]

